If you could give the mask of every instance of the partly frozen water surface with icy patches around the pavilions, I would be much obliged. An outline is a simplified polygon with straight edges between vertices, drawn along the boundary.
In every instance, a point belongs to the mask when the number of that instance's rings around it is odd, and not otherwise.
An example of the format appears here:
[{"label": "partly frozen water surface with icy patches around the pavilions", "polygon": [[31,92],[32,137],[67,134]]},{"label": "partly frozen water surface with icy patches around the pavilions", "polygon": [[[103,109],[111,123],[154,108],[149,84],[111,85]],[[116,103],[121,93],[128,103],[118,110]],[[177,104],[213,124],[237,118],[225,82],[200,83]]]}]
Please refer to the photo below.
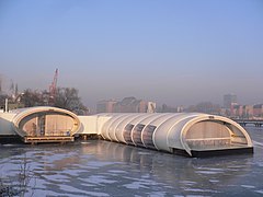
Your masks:
[{"label": "partly frozen water surface with icy patches around the pavilions", "polygon": [[[255,153],[192,159],[108,141],[1,147],[1,176],[22,158],[34,196],[233,196],[263,194],[263,129],[248,128]],[[30,194],[30,193],[28,193]]]}]

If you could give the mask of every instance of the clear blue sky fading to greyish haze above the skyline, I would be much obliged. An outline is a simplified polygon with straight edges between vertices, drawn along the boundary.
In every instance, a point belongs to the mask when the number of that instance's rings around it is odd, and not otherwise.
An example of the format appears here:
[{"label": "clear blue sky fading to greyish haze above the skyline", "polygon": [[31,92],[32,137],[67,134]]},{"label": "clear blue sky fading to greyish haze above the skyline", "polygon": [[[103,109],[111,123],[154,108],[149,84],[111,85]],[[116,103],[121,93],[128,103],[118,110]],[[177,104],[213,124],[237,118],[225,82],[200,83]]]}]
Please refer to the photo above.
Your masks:
[{"label": "clear blue sky fading to greyish haze above the skyline", "polygon": [[79,90],[89,107],[263,103],[262,0],[0,0],[0,74]]}]

